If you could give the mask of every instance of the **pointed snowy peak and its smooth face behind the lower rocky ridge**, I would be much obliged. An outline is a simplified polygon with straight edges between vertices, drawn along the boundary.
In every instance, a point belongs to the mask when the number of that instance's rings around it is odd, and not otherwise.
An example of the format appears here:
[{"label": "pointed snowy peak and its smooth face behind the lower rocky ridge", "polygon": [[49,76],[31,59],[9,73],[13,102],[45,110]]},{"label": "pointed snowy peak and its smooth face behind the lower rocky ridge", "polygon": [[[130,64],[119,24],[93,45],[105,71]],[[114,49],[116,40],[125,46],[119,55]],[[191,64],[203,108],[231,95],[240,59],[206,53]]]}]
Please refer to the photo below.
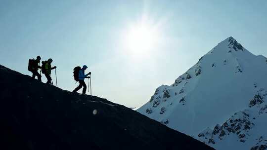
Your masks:
[{"label": "pointed snowy peak and its smooth face behind the lower rocky ridge", "polygon": [[[223,124],[247,108],[258,87],[267,89],[267,59],[255,56],[229,37],[175,83],[158,87],[137,111],[197,137],[207,127]],[[210,129],[211,130],[211,129]]]}]

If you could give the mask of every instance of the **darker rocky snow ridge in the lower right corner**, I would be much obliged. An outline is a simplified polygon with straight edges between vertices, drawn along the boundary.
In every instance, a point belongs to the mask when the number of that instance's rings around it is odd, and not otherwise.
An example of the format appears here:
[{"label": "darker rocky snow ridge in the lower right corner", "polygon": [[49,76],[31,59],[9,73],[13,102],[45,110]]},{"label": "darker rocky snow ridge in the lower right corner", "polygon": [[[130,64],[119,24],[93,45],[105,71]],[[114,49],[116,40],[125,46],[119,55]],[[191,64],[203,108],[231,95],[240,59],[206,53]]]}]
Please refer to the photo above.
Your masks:
[{"label": "darker rocky snow ridge in the lower right corner", "polygon": [[[257,85],[255,88],[258,88]],[[247,109],[234,113],[213,130],[208,127],[198,135],[198,140],[216,150],[266,150],[266,96],[267,91],[260,88]]]}]

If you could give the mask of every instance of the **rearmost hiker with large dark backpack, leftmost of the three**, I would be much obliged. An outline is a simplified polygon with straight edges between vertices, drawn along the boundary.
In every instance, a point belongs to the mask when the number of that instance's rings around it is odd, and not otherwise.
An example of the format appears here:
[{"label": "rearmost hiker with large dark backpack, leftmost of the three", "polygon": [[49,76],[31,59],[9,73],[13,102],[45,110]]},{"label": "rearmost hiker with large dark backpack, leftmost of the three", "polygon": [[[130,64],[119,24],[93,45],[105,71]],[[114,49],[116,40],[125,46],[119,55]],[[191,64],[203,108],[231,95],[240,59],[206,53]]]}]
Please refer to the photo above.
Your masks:
[{"label": "rearmost hiker with large dark backpack, leftmost of the three", "polygon": [[28,71],[33,73],[32,78],[35,79],[35,76],[37,76],[39,81],[41,80],[42,75],[38,73],[38,69],[41,69],[40,64],[41,57],[37,56],[36,59],[29,59],[29,64],[28,64]]}]

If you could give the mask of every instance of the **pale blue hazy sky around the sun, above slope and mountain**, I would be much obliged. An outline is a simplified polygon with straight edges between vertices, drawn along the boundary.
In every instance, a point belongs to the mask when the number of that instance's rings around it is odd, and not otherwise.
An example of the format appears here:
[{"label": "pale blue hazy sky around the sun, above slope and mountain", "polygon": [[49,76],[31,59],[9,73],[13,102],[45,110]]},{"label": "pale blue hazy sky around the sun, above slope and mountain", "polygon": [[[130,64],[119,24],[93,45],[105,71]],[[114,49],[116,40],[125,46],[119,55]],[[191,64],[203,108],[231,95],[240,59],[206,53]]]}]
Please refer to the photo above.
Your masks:
[{"label": "pale blue hazy sky around the sun, above slope and mountain", "polygon": [[[131,50],[128,31],[142,19],[157,41]],[[93,95],[140,107],[229,36],[267,56],[266,27],[266,0],[0,0],[0,64],[31,75],[30,58],[52,58],[65,90],[86,64]]]}]

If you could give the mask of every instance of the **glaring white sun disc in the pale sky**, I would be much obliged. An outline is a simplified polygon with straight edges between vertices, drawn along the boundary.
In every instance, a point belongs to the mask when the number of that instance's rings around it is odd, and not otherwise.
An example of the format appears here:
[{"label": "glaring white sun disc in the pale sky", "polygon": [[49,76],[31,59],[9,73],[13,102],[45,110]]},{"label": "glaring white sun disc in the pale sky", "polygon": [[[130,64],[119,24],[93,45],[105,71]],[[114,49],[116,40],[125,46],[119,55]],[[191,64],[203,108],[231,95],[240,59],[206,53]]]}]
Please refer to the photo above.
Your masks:
[{"label": "glaring white sun disc in the pale sky", "polygon": [[124,38],[126,48],[132,54],[147,54],[156,48],[159,40],[158,33],[158,29],[147,22],[133,24]]}]

